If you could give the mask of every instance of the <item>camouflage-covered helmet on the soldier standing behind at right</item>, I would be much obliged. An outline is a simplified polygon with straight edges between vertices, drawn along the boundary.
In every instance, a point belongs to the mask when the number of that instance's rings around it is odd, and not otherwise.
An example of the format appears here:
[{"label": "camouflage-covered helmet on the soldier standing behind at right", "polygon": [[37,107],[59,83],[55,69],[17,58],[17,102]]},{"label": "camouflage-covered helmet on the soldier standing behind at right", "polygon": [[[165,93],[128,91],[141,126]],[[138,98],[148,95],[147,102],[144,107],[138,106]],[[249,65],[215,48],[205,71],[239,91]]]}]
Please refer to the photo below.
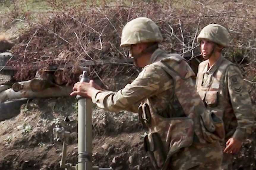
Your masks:
[{"label": "camouflage-covered helmet on the soldier standing behind at right", "polygon": [[197,36],[197,41],[200,41],[201,38],[208,39],[216,44],[227,47],[229,45],[230,35],[227,29],[222,25],[209,24],[201,30]]}]

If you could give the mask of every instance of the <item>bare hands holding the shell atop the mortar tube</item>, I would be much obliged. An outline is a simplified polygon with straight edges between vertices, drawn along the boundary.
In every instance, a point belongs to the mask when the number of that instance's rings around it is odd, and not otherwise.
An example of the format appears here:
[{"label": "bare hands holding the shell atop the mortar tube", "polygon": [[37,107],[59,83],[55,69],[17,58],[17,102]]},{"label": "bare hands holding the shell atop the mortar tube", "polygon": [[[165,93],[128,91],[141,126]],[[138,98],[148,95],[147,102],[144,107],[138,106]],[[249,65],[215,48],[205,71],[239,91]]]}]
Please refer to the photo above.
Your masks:
[{"label": "bare hands holding the shell atop the mortar tube", "polygon": [[91,98],[91,91],[94,90],[96,85],[93,83],[93,80],[90,82],[77,82],[73,87],[73,92],[70,95],[80,95],[84,97]]}]

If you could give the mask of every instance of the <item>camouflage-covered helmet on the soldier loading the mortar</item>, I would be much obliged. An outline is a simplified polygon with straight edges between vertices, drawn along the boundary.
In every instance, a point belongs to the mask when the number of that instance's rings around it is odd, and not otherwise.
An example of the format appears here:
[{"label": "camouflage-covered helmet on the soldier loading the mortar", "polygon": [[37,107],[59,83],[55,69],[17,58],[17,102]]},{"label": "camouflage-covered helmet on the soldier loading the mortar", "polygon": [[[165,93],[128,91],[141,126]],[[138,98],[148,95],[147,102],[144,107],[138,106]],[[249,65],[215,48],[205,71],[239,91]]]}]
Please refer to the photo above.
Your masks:
[{"label": "camouflage-covered helmet on the soldier loading the mortar", "polygon": [[124,26],[120,46],[161,41],[163,37],[156,23],[149,18],[138,17]]}]

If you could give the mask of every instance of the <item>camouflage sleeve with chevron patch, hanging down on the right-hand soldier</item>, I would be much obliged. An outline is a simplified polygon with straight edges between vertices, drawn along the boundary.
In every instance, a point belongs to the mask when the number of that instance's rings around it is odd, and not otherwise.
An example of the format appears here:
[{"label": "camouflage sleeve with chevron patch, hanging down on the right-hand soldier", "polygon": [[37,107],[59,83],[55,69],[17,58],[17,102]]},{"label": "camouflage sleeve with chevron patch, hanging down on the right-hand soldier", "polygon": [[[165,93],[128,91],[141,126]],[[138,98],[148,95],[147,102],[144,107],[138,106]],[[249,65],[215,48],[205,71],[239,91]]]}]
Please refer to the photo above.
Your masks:
[{"label": "camouflage sleeve with chevron patch, hanging down on the right-hand soldier", "polygon": [[227,87],[230,101],[238,122],[233,138],[243,142],[252,132],[254,115],[252,112],[251,98],[246,89],[246,84],[240,70],[236,66],[231,65],[227,70]]}]

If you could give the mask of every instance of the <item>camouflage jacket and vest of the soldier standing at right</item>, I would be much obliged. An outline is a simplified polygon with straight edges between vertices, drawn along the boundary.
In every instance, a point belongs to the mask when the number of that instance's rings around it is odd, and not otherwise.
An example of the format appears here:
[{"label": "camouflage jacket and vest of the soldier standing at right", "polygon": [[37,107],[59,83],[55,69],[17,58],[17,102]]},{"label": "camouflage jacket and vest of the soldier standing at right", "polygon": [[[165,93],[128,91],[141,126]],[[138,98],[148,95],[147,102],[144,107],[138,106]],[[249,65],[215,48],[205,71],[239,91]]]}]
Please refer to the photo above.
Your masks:
[{"label": "camouflage jacket and vest of the soldier standing at right", "polygon": [[252,132],[252,103],[238,67],[221,56],[208,68],[208,61],[199,64],[196,89],[207,109],[215,112],[225,124],[225,140],[240,141]]}]

